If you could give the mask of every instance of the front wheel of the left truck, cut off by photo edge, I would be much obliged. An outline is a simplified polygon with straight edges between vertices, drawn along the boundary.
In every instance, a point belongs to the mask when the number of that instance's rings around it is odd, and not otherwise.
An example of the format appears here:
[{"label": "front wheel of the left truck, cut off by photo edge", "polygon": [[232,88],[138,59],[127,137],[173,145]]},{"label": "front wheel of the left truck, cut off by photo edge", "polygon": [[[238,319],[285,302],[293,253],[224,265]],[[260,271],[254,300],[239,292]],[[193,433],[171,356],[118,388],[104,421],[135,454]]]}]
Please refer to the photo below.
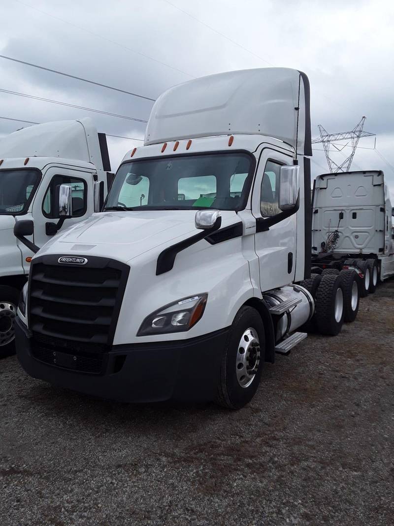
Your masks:
[{"label": "front wheel of the left truck, cut off by photo edge", "polygon": [[20,292],[14,287],[0,286],[0,358],[15,353],[15,316]]}]

